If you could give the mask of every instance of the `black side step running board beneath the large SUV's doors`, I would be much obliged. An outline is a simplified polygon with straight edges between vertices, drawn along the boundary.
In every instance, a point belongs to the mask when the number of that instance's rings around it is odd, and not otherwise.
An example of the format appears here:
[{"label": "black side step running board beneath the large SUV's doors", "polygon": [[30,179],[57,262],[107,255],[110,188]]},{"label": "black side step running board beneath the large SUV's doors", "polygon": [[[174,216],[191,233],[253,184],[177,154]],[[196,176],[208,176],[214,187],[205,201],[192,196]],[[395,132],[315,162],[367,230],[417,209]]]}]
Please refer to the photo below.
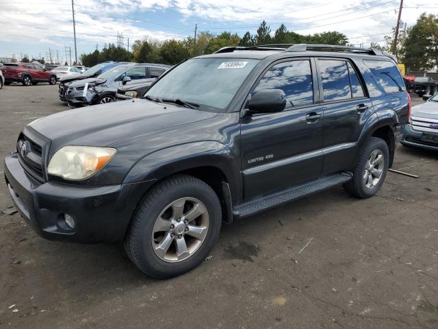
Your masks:
[{"label": "black side step running board beneath the large SUV's doors", "polygon": [[285,191],[242,204],[233,209],[233,216],[236,218],[247,217],[262,210],[267,210],[300,197],[325,190],[326,188],[348,182],[351,178],[351,173],[337,173],[318,178],[318,180],[302,183],[292,188],[287,188]]}]

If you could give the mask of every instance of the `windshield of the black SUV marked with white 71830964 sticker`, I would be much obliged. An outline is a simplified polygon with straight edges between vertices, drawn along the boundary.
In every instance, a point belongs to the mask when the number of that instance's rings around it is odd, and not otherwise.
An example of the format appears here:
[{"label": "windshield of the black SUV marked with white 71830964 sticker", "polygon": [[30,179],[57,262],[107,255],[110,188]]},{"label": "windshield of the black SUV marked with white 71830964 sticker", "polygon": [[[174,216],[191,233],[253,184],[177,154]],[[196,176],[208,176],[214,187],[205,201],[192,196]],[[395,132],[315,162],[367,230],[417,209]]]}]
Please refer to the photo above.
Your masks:
[{"label": "windshield of the black SUV marked with white 71830964 sticker", "polygon": [[147,95],[196,103],[199,110],[226,108],[259,60],[195,58],[164,75]]}]

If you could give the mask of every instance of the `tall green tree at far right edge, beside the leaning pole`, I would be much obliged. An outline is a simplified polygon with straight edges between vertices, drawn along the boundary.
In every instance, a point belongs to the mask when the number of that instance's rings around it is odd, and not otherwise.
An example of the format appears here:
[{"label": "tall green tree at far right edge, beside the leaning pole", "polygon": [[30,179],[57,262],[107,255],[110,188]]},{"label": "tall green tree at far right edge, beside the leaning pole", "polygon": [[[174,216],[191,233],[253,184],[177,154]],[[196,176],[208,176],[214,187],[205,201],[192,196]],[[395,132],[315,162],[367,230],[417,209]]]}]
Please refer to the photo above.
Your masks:
[{"label": "tall green tree at far right edge, beside the leaning pole", "polygon": [[438,17],[423,13],[408,29],[404,41],[404,64],[411,71],[428,71],[438,64]]}]

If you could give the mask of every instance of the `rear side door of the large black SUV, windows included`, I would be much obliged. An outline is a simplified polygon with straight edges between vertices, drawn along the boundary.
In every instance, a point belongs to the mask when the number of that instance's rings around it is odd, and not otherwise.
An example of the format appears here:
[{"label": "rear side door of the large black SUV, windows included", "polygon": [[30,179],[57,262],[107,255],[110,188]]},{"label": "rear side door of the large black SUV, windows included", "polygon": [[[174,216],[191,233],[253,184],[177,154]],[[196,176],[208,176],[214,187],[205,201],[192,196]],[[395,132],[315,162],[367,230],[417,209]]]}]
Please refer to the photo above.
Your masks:
[{"label": "rear side door of the large black SUV, windows included", "polygon": [[353,62],[318,58],[317,67],[324,110],[322,175],[326,175],[350,169],[362,127],[374,109]]}]

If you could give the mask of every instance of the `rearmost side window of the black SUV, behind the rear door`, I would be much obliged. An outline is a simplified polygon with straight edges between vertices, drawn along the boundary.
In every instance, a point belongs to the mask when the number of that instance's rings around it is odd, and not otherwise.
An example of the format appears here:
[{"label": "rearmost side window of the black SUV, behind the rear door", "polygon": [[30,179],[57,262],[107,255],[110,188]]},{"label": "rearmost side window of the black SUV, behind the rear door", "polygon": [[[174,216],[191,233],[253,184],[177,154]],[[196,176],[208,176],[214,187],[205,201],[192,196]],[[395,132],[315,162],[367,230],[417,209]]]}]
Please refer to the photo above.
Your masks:
[{"label": "rearmost side window of the black SUV, behind the rear door", "polygon": [[394,62],[383,60],[364,60],[363,62],[371,70],[386,93],[400,93],[400,91],[404,91],[403,79]]}]

